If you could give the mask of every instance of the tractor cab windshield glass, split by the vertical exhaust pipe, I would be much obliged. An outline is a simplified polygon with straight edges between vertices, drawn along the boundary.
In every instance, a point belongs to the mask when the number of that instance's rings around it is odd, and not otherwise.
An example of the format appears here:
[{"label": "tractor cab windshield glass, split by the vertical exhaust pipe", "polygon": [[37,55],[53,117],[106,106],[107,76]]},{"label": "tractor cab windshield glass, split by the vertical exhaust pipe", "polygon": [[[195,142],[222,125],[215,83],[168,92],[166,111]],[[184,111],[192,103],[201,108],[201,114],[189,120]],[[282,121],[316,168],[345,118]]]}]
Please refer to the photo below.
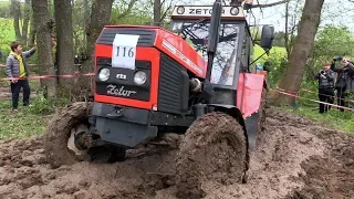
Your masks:
[{"label": "tractor cab windshield glass, split by the vertical exhaust pipe", "polygon": [[[210,22],[174,21],[171,31],[184,38],[206,60]],[[232,85],[239,42],[239,24],[220,24],[220,38],[211,71],[212,84]]]}]

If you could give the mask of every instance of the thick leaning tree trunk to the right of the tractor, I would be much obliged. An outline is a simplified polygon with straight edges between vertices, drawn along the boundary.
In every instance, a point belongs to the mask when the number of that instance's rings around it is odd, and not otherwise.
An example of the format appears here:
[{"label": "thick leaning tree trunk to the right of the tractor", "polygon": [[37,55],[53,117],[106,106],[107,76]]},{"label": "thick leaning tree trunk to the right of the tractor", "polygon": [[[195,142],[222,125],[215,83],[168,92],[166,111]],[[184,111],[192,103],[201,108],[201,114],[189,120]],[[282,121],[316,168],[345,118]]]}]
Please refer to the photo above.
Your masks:
[{"label": "thick leaning tree trunk to the right of the tractor", "polygon": [[[324,0],[305,1],[298,36],[290,55],[290,65],[280,81],[280,88],[295,93],[299,92],[303,80],[304,66],[311,53],[310,51],[320,24],[323,1]],[[275,97],[274,103],[278,105],[292,105],[295,100],[292,96],[282,94]]]}]

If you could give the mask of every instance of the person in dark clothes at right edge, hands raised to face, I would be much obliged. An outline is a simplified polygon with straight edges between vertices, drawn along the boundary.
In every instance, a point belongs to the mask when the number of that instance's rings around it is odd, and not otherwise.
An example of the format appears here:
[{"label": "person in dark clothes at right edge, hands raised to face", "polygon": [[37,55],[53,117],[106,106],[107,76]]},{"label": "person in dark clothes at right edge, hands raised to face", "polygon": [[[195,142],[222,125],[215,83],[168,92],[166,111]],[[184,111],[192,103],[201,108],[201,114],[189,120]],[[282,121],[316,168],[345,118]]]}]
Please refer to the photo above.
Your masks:
[{"label": "person in dark clothes at right edge, hands raised to face", "polygon": [[[331,64],[331,70],[337,73],[335,81],[335,90],[337,96],[337,105],[346,106],[345,97],[348,93],[354,93],[354,65],[348,59],[343,57],[341,60],[342,66],[335,66],[335,60]],[[339,108],[344,112],[344,108]]]}]

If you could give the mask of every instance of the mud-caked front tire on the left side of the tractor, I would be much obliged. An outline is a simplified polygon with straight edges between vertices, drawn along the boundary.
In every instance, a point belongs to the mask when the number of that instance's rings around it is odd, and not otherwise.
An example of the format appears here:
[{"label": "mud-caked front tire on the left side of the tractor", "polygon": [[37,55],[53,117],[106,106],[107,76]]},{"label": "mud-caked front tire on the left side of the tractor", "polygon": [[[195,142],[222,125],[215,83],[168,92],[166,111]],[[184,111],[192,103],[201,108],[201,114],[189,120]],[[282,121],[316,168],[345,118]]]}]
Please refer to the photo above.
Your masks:
[{"label": "mud-caked front tire on the left side of the tractor", "polygon": [[63,108],[50,121],[44,135],[44,153],[48,163],[53,168],[73,165],[86,158],[76,156],[69,150],[67,140],[75,126],[88,123],[87,114],[91,108],[92,103],[74,103]]}]

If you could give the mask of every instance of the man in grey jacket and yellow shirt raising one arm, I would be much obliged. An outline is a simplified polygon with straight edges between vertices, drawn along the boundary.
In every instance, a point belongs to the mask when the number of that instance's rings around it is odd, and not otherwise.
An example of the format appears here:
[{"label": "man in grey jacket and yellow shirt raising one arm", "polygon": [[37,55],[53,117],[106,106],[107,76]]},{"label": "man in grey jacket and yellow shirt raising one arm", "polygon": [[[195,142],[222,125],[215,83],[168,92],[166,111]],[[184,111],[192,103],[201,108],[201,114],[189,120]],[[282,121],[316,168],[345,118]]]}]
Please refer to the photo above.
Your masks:
[{"label": "man in grey jacket and yellow shirt raising one arm", "polygon": [[31,88],[27,77],[29,70],[25,60],[35,52],[35,45],[25,52],[22,52],[22,45],[19,42],[11,43],[11,53],[7,59],[6,73],[8,77],[20,77],[23,80],[11,80],[12,109],[18,111],[19,95],[21,87],[23,88],[23,106],[30,103]]}]

